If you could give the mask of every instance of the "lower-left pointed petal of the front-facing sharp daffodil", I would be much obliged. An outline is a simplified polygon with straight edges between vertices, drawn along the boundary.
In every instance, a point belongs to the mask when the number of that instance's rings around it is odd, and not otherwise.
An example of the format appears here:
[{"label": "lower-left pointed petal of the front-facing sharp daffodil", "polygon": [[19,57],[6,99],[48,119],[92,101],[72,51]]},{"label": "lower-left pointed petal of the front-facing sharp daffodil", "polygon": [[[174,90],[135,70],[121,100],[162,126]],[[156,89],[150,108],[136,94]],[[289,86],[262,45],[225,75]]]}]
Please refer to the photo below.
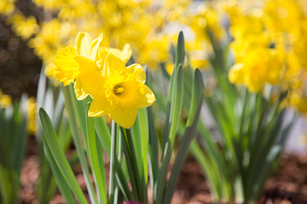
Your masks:
[{"label": "lower-left pointed petal of the front-facing sharp daffodil", "polygon": [[90,117],[100,117],[102,115],[107,115],[115,110],[116,106],[112,106],[106,98],[105,90],[101,89],[97,96],[93,98],[93,102],[88,111],[88,116]]}]

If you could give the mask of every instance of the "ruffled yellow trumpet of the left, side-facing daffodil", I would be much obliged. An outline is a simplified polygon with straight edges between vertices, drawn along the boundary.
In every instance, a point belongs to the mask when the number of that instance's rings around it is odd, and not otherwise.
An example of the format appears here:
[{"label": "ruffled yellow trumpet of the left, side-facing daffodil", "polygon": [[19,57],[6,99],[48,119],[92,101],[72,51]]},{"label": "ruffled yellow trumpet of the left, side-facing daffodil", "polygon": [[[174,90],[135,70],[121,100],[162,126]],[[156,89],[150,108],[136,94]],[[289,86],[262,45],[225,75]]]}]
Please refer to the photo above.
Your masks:
[{"label": "ruffled yellow trumpet of the left, side-facing daffodil", "polygon": [[53,58],[55,67],[52,69],[52,74],[57,80],[62,81],[64,86],[69,85],[80,74],[74,58],[75,53],[74,48],[64,47],[57,51],[57,55]]}]

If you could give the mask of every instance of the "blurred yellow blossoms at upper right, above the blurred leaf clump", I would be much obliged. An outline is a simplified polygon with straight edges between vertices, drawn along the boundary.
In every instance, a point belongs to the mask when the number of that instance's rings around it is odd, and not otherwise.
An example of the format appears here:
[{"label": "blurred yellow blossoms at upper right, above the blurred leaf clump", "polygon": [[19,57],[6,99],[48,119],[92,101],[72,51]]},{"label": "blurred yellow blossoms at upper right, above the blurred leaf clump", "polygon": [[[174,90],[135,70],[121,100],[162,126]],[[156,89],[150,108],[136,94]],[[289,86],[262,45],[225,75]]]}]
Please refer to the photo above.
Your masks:
[{"label": "blurred yellow blossoms at upper right, above the blurred leaf clump", "polygon": [[307,113],[306,3],[281,1],[219,1],[220,20],[229,21],[225,31],[234,39],[230,48],[235,64],[229,80],[259,92],[266,83],[288,91],[284,104]]}]

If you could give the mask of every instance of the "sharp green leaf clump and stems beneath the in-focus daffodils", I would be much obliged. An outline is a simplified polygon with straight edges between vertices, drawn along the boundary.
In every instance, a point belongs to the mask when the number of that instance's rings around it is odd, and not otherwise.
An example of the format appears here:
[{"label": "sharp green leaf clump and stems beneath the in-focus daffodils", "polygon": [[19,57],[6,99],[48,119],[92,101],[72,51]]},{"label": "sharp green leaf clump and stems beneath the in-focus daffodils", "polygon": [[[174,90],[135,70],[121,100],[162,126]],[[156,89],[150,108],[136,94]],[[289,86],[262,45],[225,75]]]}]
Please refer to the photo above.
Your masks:
[{"label": "sharp green leaf clump and stems beneath the in-focus daffodils", "polygon": [[[123,200],[148,202],[148,176],[153,190],[154,203],[169,203],[175,191],[184,158],[189,144],[194,138],[200,109],[202,107],[204,82],[198,69],[195,70],[190,89],[191,97],[188,102],[188,120],[184,125],[182,144],[177,152],[173,171],[169,182],[166,175],[174,150],[174,141],[181,121],[185,91],[184,63],[185,50],[183,34],[180,32],[177,44],[176,69],[171,76],[169,93],[166,103],[167,123],[163,138],[160,140],[163,147],[163,156],[159,164],[159,145],[155,128],[155,114],[152,107],[138,110],[137,119],[130,129],[119,127],[112,122],[111,132],[103,119],[88,117],[91,98],[84,101],[76,100],[73,87],[62,86],[65,98],[65,107],[68,113],[68,124],[71,129],[76,151],[80,160],[87,191],[91,203],[122,203]],[[164,100],[164,97],[157,98]],[[163,103],[159,102],[159,103]],[[76,183],[69,162],[64,157],[63,149],[54,130],[50,118],[43,108],[39,111],[40,121],[44,132],[44,145],[48,160],[55,175],[56,183],[65,200],[75,196],[78,202],[86,203],[83,192]],[[106,175],[104,170],[103,149],[110,158],[109,195],[107,196]],[[89,167],[87,165],[89,161]],[[90,171],[94,177],[95,188],[90,180]],[[148,174],[149,172],[149,174]],[[132,193],[128,183],[131,184]],[[68,188],[70,191],[68,191]]]}]

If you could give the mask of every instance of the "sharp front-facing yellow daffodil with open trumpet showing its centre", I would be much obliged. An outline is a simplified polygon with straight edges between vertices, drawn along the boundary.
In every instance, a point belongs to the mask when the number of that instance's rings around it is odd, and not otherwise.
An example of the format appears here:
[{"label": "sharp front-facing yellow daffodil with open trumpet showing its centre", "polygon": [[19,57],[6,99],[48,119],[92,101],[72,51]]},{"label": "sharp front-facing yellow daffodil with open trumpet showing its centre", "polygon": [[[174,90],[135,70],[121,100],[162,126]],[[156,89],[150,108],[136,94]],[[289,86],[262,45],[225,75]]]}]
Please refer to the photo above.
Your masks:
[{"label": "sharp front-facing yellow daffodil with open trumpet showing its centre", "polygon": [[139,64],[128,67],[109,53],[102,75],[95,76],[96,84],[87,83],[84,89],[91,94],[93,102],[90,117],[109,115],[121,127],[130,128],[135,122],[138,108],[146,108],[156,100],[144,83],[146,74]]}]

